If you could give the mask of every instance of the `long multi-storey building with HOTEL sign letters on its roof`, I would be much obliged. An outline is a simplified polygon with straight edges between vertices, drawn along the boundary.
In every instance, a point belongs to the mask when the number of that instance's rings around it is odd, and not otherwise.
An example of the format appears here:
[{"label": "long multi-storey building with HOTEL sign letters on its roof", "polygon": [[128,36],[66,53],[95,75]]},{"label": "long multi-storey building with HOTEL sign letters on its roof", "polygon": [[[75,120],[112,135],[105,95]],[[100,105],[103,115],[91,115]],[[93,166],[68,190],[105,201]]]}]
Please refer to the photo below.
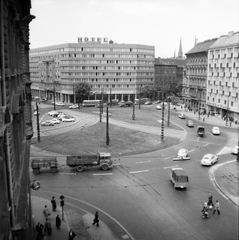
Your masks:
[{"label": "long multi-storey building with HOTEL sign letters on its roof", "polygon": [[91,85],[88,99],[133,100],[140,88],[154,84],[154,47],[138,44],[67,43],[30,50],[35,96],[72,103],[74,86]]}]

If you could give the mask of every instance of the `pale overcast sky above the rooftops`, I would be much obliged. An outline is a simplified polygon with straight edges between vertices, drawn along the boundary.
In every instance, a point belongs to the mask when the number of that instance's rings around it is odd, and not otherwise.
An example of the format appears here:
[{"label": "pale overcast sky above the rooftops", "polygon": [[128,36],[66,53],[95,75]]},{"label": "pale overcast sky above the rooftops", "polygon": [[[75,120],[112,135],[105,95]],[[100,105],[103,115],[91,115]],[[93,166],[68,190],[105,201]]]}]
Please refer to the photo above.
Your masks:
[{"label": "pale overcast sky above the rooftops", "polygon": [[155,57],[239,31],[239,0],[31,0],[30,48],[107,37],[155,46]]}]

